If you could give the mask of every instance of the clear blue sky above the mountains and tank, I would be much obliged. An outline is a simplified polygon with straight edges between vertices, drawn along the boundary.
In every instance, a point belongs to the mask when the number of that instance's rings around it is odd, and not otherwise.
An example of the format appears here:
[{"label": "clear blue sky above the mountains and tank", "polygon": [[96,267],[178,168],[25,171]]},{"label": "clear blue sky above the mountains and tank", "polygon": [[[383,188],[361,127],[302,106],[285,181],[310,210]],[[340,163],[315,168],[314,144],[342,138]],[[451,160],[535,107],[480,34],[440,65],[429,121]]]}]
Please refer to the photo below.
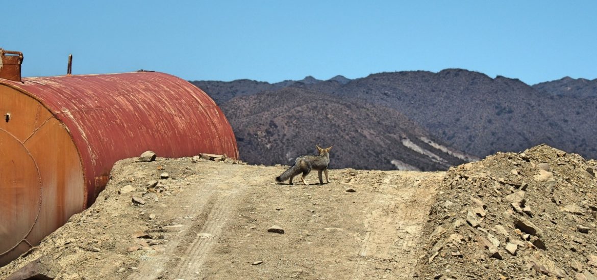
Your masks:
[{"label": "clear blue sky above the mountains and tank", "polygon": [[462,68],[597,78],[597,1],[5,1],[23,76],[139,69],[186,80],[351,79]]}]

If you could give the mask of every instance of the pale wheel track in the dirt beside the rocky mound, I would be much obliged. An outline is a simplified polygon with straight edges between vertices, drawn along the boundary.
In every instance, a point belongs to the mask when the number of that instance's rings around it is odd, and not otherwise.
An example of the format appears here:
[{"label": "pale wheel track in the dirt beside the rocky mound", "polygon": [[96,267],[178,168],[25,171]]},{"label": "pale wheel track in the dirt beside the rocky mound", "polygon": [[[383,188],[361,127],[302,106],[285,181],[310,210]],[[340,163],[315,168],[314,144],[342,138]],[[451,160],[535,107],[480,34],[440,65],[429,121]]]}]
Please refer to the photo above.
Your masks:
[{"label": "pale wheel track in the dirt beside the rocky mound", "polygon": [[[429,176],[423,182],[413,178],[416,174],[384,173],[380,185],[386,187],[377,195],[377,205],[364,221],[366,234],[358,252],[353,279],[412,278],[412,269],[417,262],[417,242],[435,193],[433,182],[441,179],[443,173]],[[393,181],[397,186],[392,186]],[[396,266],[393,270],[375,268],[389,266],[389,263],[395,263],[398,269]]]}]

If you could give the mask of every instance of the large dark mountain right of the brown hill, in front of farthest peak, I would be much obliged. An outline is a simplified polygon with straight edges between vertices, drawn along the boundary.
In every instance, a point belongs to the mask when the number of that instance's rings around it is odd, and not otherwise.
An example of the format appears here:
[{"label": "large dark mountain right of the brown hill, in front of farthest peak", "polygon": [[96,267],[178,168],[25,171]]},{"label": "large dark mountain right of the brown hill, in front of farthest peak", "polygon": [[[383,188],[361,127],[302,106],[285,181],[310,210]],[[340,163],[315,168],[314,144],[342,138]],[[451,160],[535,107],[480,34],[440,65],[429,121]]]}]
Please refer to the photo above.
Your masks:
[{"label": "large dark mountain right of the brown hill, in front of farthest peak", "polygon": [[334,94],[394,108],[458,150],[483,157],[546,143],[597,155],[594,98],[554,97],[518,79],[461,69],[352,80]]}]

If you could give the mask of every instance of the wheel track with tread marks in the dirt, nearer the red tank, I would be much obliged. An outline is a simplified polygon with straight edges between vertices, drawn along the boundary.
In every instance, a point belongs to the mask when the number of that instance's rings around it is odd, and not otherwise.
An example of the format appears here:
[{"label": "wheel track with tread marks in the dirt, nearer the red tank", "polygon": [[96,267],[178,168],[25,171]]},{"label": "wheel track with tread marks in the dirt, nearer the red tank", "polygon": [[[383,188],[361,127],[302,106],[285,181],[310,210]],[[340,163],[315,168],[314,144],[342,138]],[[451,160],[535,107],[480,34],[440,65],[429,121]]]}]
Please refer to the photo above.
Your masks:
[{"label": "wheel track with tread marks in the dirt, nearer the red tank", "polygon": [[[167,233],[168,247],[161,256],[142,259],[139,270],[128,279],[194,279],[240,196],[241,189],[229,182],[234,178],[233,170],[221,169],[202,175],[199,181],[190,180],[194,183],[188,186],[186,199],[168,210],[190,219],[182,220],[179,232]],[[210,235],[201,237],[199,233]]]}]

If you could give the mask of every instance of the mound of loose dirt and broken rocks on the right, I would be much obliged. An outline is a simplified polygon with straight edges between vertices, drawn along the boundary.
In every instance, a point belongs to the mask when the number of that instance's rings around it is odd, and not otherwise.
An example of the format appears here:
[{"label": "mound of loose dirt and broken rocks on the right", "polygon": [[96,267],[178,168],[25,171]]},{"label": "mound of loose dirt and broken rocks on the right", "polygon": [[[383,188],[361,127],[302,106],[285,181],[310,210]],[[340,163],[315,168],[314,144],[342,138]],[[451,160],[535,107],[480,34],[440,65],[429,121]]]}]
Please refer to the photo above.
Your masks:
[{"label": "mound of loose dirt and broken rocks on the right", "polygon": [[595,279],[597,161],[546,145],[448,170],[423,279]]}]

